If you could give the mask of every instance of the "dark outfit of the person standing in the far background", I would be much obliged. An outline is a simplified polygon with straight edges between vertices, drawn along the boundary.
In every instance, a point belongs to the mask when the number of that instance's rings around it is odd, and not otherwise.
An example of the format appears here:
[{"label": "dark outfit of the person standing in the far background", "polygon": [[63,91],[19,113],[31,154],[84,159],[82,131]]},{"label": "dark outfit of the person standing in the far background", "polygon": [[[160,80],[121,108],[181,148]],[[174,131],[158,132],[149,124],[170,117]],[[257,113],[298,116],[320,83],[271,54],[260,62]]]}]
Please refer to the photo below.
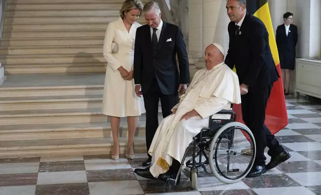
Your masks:
[{"label": "dark outfit of the person standing in the far background", "polygon": [[278,26],[276,31],[281,68],[294,69],[296,58],[296,46],[298,43],[298,27],[290,24],[288,36],[285,25]]}]

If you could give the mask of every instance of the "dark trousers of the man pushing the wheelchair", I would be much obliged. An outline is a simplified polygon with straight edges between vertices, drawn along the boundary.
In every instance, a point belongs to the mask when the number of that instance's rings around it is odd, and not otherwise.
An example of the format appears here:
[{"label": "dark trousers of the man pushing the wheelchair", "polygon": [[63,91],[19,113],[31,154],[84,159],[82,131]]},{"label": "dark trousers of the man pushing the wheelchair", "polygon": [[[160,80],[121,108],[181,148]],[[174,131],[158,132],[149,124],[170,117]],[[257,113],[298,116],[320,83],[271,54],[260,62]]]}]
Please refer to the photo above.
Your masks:
[{"label": "dark trousers of the man pushing the wheelchair", "polygon": [[264,150],[269,147],[268,154],[273,157],[284,151],[279,141],[271,134],[264,124],[265,108],[271,94],[272,86],[250,87],[246,95],[241,96],[242,116],[245,124],[252,131],[256,142],[256,157],[254,165],[264,165],[266,157]]}]

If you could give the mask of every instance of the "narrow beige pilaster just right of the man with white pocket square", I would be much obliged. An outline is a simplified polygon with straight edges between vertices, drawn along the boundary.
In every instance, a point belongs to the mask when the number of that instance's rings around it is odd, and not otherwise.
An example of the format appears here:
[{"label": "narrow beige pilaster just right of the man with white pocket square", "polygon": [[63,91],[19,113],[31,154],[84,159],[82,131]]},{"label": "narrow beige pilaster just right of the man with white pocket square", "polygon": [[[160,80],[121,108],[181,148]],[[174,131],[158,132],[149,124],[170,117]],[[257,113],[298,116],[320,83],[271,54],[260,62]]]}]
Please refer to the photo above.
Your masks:
[{"label": "narrow beige pilaster just right of the man with white pocket square", "polygon": [[202,56],[202,0],[188,0],[188,54],[191,64]]}]

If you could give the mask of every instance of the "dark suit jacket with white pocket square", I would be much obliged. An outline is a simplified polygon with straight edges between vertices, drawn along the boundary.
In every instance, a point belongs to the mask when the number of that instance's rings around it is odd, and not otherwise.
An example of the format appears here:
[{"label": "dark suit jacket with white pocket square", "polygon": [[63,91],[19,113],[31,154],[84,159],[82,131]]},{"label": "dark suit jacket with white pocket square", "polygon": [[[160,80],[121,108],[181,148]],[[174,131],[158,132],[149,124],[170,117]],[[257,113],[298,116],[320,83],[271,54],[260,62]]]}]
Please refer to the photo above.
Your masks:
[{"label": "dark suit jacket with white pocket square", "polygon": [[155,56],[151,27],[137,28],[134,51],[134,81],[141,85],[143,94],[148,93],[154,78],[164,95],[177,93],[179,84],[189,83],[188,55],[178,26],[163,22]]}]

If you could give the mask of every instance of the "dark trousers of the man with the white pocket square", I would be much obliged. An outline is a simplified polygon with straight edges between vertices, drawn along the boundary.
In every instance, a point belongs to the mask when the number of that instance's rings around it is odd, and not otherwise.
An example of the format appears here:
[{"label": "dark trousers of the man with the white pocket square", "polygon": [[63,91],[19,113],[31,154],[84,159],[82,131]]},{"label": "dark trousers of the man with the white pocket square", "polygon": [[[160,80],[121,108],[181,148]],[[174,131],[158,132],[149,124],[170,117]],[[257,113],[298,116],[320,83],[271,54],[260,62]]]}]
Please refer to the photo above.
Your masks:
[{"label": "dark trousers of the man with the white pocket square", "polygon": [[[155,132],[159,126],[159,101],[163,118],[170,115],[171,108],[178,102],[178,93],[164,95],[160,91],[157,80],[154,79],[148,93],[143,94],[146,109],[146,146],[147,151],[150,149]],[[148,154],[149,157],[151,157]]]}]

